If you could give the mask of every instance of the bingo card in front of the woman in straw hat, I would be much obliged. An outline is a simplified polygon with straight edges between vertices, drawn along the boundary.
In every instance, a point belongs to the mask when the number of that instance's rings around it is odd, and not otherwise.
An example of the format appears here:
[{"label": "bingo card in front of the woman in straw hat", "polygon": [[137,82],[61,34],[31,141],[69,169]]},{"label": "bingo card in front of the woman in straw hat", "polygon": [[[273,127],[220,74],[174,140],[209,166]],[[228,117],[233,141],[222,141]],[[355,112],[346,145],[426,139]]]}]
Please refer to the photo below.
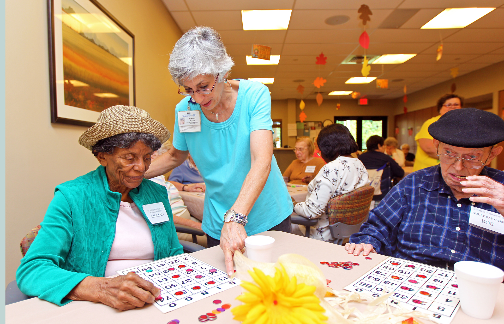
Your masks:
[{"label": "bingo card in front of the woman in straw hat", "polygon": [[117,271],[134,272],[161,290],[161,300],[154,305],[163,313],[212,296],[241,283],[224,272],[187,254],[165,257],[134,268]]}]

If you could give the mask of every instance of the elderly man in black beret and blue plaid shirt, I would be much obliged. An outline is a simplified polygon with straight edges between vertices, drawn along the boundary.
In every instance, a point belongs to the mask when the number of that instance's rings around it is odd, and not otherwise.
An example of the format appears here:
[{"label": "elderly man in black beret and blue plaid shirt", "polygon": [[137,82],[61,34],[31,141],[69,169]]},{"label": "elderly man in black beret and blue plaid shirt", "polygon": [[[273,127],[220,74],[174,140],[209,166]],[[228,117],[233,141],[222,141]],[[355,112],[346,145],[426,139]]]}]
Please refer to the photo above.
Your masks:
[{"label": "elderly man in black beret and blue plaid shirt", "polygon": [[502,151],[496,144],[504,141],[504,120],[475,108],[457,109],[428,131],[441,163],[394,186],[346,250],[450,270],[458,261],[504,269],[504,235],[469,223],[475,208],[504,215],[504,172],[486,166]]}]

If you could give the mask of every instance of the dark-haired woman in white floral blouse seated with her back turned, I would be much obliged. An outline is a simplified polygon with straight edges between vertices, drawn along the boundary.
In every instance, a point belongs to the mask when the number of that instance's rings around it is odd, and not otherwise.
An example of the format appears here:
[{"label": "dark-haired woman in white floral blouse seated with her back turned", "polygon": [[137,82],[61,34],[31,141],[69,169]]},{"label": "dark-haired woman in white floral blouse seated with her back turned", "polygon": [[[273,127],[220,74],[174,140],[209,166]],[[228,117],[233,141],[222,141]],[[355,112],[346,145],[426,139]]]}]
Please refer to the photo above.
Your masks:
[{"label": "dark-haired woman in white floral blouse seated with her back turned", "polygon": [[308,196],[304,202],[294,205],[294,212],[307,219],[319,219],[317,226],[310,229],[311,238],[333,242],[329,229],[329,200],[365,186],[369,181],[362,162],[350,155],[358,147],[347,127],[332,124],[322,128],[317,144],[327,164],[308,184]]}]

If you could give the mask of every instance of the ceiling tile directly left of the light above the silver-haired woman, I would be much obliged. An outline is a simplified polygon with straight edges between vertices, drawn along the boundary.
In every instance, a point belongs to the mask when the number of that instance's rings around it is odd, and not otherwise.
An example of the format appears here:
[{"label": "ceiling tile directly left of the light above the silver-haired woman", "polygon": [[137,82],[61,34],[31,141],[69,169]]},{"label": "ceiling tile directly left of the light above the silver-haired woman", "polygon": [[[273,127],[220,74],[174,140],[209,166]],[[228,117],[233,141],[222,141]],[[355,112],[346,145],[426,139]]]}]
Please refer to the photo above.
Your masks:
[{"label": "ceiling tile directly left of the light above the silver-haired woman", "polygon": [[193,11],[196,23],[216,30],[243,30],[240,11]]}]

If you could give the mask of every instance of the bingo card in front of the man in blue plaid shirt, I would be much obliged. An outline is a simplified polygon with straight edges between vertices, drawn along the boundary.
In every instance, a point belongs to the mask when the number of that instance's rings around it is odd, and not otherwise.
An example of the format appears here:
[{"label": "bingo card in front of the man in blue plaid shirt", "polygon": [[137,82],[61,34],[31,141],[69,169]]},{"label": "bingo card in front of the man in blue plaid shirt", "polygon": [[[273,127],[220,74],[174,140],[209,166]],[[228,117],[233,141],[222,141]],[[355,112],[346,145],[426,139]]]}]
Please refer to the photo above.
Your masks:
[{"label": "bingo card in front of the man in blue plaid shirt", "polygon": [[418,310],[440,324],[449,324],[458,308],[455,272],[389,257],[344,289],[373,297],[392,292],[389,304]]}]

